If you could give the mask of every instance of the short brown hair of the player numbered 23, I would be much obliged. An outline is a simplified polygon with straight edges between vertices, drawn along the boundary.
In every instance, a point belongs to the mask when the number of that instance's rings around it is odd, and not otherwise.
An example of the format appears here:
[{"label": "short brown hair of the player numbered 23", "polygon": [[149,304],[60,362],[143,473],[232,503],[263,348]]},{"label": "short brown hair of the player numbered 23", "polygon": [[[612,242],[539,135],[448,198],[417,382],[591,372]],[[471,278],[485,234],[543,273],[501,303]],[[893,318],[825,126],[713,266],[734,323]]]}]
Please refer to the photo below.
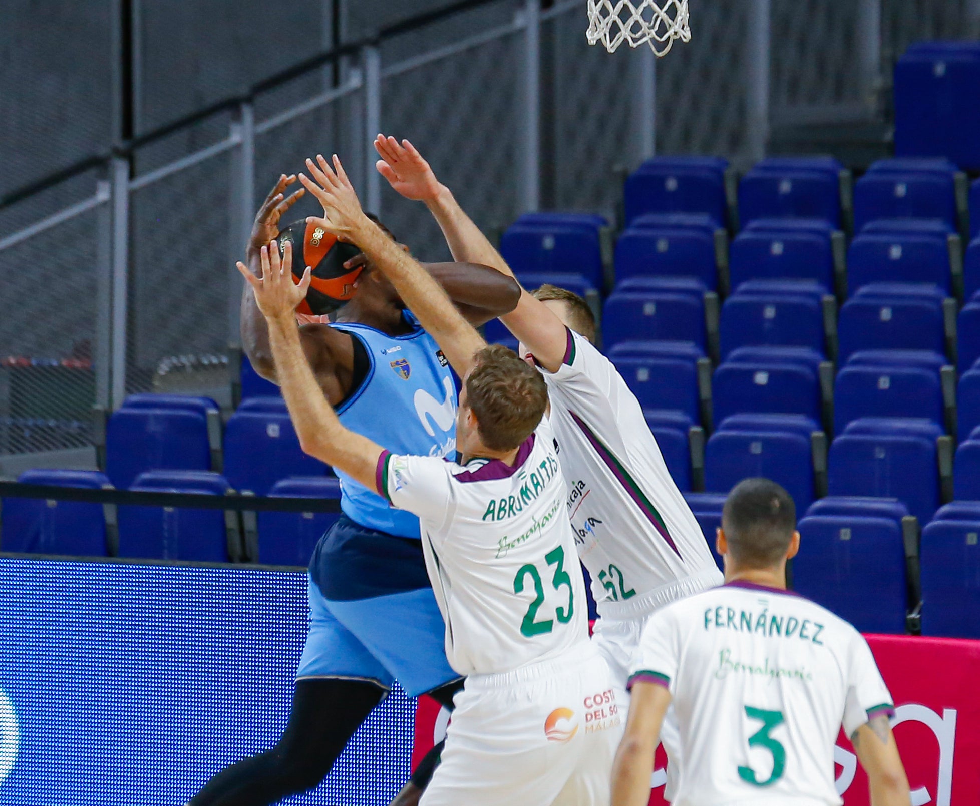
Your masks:
[{"label": "short brown hair of the player numbered 23", "polygon": [[545,379],[502,345],[483,348],[473,360],[466,376],[466,404],[476,416],[480,439],[490,450],[514,450],[544,416]]}]

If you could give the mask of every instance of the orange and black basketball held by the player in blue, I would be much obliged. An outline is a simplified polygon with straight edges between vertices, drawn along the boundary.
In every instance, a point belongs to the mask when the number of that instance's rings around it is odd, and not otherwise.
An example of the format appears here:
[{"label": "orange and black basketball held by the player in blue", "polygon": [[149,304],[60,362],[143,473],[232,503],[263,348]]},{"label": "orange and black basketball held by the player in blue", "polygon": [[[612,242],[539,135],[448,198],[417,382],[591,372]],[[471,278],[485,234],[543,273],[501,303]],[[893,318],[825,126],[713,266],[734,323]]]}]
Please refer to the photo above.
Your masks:
[{"label": "orange and black basketball held by the player in blue", "polygon": [[332,313],[354,296],[355,283],[363,266],[344,268],[344,263],[359,255],[353,244],[338,241],[318,224],[293,221],[279,233],[279,250],[293,245],[293,281],[303,278],[307,266],[313,268],[306,299],[296,308],[300,313],[322,316]]}]

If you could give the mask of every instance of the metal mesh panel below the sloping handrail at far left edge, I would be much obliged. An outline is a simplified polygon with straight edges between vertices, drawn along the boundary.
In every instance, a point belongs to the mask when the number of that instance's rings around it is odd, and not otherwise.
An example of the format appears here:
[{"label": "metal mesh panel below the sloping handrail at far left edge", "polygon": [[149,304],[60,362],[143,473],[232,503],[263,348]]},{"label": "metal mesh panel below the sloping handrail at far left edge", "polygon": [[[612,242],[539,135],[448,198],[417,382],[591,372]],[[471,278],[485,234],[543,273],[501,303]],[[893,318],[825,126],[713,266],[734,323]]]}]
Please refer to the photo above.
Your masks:
[{"label": "metal mesh panel below the sloping handrail at far left edge", "polygon": [[91,444],[105,204],[0,250],[0,453]]}]

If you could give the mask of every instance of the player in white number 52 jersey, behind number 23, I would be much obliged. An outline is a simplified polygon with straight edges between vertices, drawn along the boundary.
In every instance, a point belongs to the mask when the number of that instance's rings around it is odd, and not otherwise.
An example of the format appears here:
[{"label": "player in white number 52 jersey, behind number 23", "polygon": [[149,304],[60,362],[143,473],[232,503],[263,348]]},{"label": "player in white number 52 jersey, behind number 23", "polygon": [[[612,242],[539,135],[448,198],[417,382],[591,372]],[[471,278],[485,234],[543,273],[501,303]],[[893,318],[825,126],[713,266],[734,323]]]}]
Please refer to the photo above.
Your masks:
[{"label": "player in white number 52 jersey, behind number 23", "polygon": [[[425,202],[456,260],[513,276],[411,143],[378,135],[374,147],[381,157],[377,169],[403,196]],[[665,604],[719,585],[721,574],[640,403],[591,344],[591,310],[570,292],[543,291],[523,291],[501,321],[520,339],[520,356],[532,358],[548,384],[569,485],[567,511],[601,616],[596,642],[623,707],[627,667],[645,620]]]}]

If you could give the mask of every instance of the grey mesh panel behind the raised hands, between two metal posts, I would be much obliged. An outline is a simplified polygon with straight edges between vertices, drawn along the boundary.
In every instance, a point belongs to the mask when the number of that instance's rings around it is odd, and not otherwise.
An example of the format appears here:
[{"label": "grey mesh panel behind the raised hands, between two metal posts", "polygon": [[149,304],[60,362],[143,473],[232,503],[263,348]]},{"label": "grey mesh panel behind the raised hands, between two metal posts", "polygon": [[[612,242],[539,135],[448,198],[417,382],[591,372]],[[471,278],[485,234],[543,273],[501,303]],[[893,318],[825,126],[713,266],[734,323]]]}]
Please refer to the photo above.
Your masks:
[{"label": "grey mesh panel behind the raised hands, between two metal posts", "polygon": [[[382,130],[410,139],[484,230],[519,212],[521,46],[520,33],[507,33],[410,70],[382,70]],[[413,254],[449,260],[423,206],[396,196],[384,182],[381,198],[385,224]]]}]

